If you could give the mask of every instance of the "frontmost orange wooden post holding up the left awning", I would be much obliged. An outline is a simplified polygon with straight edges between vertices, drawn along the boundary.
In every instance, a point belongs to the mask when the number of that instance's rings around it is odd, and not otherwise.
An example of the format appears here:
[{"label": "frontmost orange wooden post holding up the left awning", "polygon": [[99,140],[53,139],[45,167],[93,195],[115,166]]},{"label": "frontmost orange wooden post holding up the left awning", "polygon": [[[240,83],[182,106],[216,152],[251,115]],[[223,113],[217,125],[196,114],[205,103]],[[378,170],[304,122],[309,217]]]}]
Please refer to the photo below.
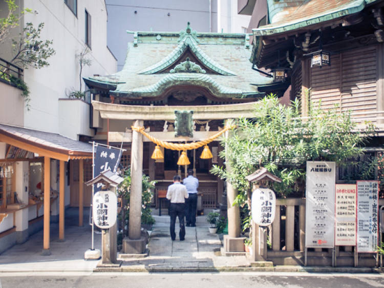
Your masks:
[{"label": "frontmost orange wooden post holding up the left awning", "polygon": [[51,255],[49,250],[51,208],[51,158],[44,157],[44,236],[42,255]]}]

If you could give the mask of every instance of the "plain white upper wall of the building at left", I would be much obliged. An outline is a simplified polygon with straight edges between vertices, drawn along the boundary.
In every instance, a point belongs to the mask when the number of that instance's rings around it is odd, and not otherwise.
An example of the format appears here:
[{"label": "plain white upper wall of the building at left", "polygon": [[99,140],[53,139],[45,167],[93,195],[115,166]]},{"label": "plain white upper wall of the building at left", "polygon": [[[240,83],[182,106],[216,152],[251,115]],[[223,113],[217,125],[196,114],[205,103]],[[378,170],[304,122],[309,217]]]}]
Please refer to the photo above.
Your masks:
[{"label": "plain white upper wall of the building at left", "polygon": [[[48,59],[50,66],[39,70],[25,71],[25,81],[31,91],[31,108],[25,111],[24,125],[27,128],[58,133],[70,131],[67,122],[59,120],[59,98],[67,97],[71,90],[79,90],[79,64],[75,57],[82,51],[85,38],[85,9],[91,15],[91,67],[84,67],[82,77],[93,74],[116,72],[116,60],[106,47],[106,8],[103,0],[78,0],[77,17],[64,1],[25,0],[24,7],[36,10],[38,14],[27,14],[25,23],[37,26],[45,23],[41,32],[43,39],[52,39],[56,54]],[[84,83],[82,90],[84,90]],[[73,117],[68,111],[67,117]],[[80,125],[80,123],[78,124]],[[81,123],[89,126],[89,121]],[[67,132],[66,132],[67,133]],[[77,135],[64,134],[73,139]]]}]

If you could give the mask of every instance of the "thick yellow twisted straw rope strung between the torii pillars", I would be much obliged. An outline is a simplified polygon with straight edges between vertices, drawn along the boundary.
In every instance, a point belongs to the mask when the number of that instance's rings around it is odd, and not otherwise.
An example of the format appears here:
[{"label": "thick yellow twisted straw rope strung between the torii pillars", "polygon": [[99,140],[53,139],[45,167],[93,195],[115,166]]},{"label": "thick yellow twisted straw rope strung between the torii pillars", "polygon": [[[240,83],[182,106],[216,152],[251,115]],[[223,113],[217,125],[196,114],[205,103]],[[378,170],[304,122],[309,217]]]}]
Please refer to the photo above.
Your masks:
[{"label": "thick yellow twisted straw rope strung between the torii pillars", "polygon": [[156,145],[159,145],[161,147],[164,147],[164,148],[170,149],[170,150],[184,151],[184,150],[193,150],[193,149],[197,149],[197,148],[203,147],[204,145],[207,145],[208,143],[210,143],[213,140],[215,140],[217,137],[219,137],[224,132],[228,131],[229,129],[233,129],[235,127],[236,127],[236,125],[227,126],[223,130],[221,130],[220,132],[216,133],[215,135],[210,136],[209,138],[207,138],[205,140],[201,140],[201,141],[198,141],[198,142],[186,143],[186,144],[179,144],[179,143],[172,143],[172,142],[167,142],[167,141],[161,141],[161,140],[159,140],[159,139],[157,139],[155,137],[152,137],[150,134],[146,133],[144,131],[144,127],[134,127],[134,126],[132,126],[131,129],[132,129],[132,131],[136,131],[136,132],[139,132],[139,133],[143,134],[145,137],[150,139]]}]

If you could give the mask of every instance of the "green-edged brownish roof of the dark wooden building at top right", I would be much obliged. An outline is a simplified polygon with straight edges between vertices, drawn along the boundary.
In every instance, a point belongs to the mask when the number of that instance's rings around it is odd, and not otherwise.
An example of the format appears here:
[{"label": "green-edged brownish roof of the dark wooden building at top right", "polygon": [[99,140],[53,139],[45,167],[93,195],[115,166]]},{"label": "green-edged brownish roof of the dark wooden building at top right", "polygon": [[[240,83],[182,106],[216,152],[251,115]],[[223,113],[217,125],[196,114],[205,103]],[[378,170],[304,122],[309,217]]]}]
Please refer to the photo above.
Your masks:
[{"label": "green-edged brownish roof of the dark wooden building at top right", "polygon": [[[287,0],[283,0],[287,1]],[[297,7],[282,8],[276,22],[252,29],[254,36],[271,35],[307,27],[357,13],[376,0],[308,0]]]}]

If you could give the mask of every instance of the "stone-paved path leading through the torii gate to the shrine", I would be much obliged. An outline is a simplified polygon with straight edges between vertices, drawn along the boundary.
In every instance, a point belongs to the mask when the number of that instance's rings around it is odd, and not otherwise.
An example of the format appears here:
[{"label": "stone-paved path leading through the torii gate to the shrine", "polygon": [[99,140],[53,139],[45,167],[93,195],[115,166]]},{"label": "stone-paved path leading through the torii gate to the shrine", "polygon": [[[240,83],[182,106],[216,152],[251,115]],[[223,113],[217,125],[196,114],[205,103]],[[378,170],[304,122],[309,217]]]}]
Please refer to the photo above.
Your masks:
[{"label": "stone-paved path leading through the torii gate to the shrine", "polygon": [[204,216],[198,217],[196,227],[186,227],[185,240],[178,237],[179,223],[176,222],[176,240],[169,235],[169,216],[155,216],[156,224],[148,243],[150,255],[146,258],[118,258],[120,268],[98,268],[95,271],[122,272],[181,272],[216,271],[217,268],[249,267],[245,256],[220,256],[222,246],[217,234],[210,234]]}]

